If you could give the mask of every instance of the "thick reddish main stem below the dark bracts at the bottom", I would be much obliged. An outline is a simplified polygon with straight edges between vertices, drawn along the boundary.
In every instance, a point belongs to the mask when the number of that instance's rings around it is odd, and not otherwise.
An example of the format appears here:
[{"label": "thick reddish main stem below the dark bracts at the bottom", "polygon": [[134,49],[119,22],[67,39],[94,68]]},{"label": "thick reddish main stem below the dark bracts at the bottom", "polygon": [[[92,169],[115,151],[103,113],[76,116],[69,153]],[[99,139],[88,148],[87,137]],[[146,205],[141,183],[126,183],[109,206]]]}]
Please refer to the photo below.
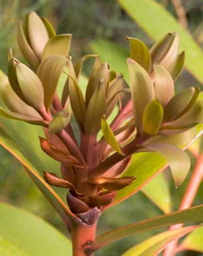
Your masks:
[{"label": "thick reddish main stem below the dark bracts at the bottom", "polygon": [[95,238],[97,222],[93,225],[74,223],[71,227],[73,256],[93,256],[90,250]]}]

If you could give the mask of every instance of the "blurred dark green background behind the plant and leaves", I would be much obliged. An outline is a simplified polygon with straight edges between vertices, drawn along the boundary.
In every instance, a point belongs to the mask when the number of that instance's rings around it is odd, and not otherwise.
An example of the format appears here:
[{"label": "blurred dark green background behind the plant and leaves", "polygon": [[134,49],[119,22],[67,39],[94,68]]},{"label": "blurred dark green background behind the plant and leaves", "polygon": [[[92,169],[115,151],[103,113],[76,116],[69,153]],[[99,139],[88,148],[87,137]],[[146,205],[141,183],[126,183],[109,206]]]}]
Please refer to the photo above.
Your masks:
[{"label": "blurred dark green background behind the plant and leaves", "polygon": [[[158,2],[169,10],[173,16],[177,17],[174,6],[175,1],[160,0]],[[182,25],[186,26],[198,44],[203,46],[203,2],[202,0],[183,0],[182,2],[186,18],[186,23]],[[114,41],[126,48],[128,48],[128,42],[125,36],[139,38],[149,47],[153,43],[115,0],[5,0],[0,1],[0,3],[0,67],[4,72],[7,72],[7,52],[10,46],[13,48],[14,55],[23,61],[17,45],[16,30],[18,21],[23,19],[30,10],[35,10],[40,16],[48,18],[57,33],[73,33],[71,55],[74,58],[91,53],[90,43],[95,39]],[[88,67],[85,70],[88,72]],[[184,71],[176,82],[176,90],[193,85],[198,86],[199,83],[192,75]],[[0,200],[41,216],[67,234],[61,219],[59,219],[52,206],[44,199],[17,160],[2,147],[0,148],[0,159]],[[193,169],[195,159],[192,156],[191,159]],[[177,210],[189,176],[181,188],[177,190],[174,188],[171,174],[168,174],[167,171],[166,177],[170,182],[174,201],[173,210]],[[199,188],[194,205],[202,204],[202,199],[203,186]],[[138,192],[125,202],[104,212],[99,222],[98,232],[101,233],[160,214],[162,212],[145,195]],[[156,234],[156,232],[152,231],[136,235],[113,243],[113,245],[99,250],[95,255],[121,255],[129,247],[150,237],[152,234]],[[189,254],[186,253],[185,255],[198,255],[198,253],[189,252]]]}]

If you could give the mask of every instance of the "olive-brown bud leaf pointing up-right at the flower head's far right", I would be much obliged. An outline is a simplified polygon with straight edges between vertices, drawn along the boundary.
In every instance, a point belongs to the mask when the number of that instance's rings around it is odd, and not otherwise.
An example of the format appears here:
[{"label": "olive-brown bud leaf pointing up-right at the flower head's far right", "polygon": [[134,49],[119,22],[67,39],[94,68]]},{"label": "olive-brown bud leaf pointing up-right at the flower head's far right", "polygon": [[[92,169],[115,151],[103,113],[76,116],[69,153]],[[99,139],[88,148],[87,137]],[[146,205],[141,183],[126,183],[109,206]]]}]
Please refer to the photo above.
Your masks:
[{"label": "olive-brown bud leaf pointing up-right at the flower head's far right", "polygon": [[170,122],[186,113],[195,103],[199,89],[189,87],[176,94],[164,108],[164,121]]}]

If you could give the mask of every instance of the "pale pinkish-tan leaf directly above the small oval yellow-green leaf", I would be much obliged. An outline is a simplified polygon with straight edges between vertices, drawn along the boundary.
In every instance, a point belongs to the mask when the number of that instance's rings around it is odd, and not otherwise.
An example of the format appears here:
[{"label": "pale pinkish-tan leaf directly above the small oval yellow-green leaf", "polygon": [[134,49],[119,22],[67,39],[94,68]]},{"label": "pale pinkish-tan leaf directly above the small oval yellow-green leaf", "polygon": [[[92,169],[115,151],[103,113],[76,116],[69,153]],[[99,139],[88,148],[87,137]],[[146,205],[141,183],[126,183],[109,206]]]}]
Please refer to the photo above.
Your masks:
[{"label": "pale pinkish-tan leaf directly above the small oval yellow-green leaf", "polygon": [[155,73],[155,96],[161,102],[162,106],[170,101],[174,96],[173,79],[169,72],[161,65],[154,65]]}]

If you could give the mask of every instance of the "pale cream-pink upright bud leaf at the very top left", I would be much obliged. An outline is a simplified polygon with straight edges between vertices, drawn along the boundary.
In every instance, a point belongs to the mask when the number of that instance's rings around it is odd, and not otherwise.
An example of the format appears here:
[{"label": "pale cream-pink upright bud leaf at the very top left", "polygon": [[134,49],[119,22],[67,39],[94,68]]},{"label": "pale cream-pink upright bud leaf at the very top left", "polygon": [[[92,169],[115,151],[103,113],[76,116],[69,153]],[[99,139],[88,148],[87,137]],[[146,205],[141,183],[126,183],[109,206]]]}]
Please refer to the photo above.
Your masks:
[{"label": "pale cream-pink upright bud leaf at the very top left", "polygon": [[49,40],[49,34],[47,33],[46,27],[44,26],[41,18],[34,11],[30,11],[28,15],[27,26],[31,47],[41,60],[44,46]]}]

